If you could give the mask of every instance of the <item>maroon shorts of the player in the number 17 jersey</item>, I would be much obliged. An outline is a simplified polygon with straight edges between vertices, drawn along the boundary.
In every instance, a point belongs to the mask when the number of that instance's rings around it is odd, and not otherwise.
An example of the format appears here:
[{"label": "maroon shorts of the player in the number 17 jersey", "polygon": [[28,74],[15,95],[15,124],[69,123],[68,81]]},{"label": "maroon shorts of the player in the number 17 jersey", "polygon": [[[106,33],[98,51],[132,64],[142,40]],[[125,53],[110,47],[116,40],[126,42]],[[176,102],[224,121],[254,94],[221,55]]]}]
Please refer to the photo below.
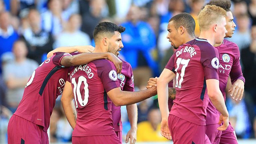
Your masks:
[{"label": "maroon shorts of the player in the number 17 jersey", "polygon": [[168,125],[173,144],[204,144],[205,142],[205,125],[197,125],[174,115],[169,115]]}]

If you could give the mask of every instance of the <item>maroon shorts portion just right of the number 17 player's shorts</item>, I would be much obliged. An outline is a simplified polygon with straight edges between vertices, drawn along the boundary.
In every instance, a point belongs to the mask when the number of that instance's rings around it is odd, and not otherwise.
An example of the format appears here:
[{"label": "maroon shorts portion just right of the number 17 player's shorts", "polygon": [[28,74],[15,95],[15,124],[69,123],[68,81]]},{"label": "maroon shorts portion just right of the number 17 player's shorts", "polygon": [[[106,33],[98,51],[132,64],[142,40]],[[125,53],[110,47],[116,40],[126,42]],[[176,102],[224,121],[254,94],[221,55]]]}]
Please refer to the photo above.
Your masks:
[{"label": "maroon shorts portion just right of the number 17 player's shorts", "polygon": [[219,126],[220,125],[218,123],[206,125],[206,135],[209,137],[209,140],[212,144],[219,144],[220,142],[220,136],[222,131],[217,129]]}]

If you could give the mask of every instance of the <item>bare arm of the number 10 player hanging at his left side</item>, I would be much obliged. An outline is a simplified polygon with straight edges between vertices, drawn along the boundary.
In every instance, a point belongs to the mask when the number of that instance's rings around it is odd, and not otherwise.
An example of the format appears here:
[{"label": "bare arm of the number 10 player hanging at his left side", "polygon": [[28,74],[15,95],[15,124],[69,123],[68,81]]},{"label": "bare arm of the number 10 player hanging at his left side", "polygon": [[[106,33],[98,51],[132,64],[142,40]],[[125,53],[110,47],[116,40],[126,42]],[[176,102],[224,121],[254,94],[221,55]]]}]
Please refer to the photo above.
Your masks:
[{"label": "bare arm of the number 10 player hanging at his left side", "polygon": [[67,120],[71,127],[74,129],[76,126],[77,113],[76,108],[73,102],[73,89],[71,83],[66,81],[64,86],[64,90],[61,97],[62,107],[64,109],[64,113],[67,117]]}]

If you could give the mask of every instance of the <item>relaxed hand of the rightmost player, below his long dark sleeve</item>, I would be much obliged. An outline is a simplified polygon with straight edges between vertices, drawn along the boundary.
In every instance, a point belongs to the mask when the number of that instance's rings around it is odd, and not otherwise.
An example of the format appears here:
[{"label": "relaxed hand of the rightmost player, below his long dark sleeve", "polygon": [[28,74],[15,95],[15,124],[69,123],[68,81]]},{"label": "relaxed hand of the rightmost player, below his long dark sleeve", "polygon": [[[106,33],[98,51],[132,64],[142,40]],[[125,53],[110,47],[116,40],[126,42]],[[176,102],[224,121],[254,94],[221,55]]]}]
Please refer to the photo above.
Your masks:
[{"label": "relaxed hand of the rightmost player, below his long dark sleeve", "polygon": [[244,81],[241,79],[237,79],[228,90],[230,92],[230,96],[236,101],[241,100],[244,94]]}]

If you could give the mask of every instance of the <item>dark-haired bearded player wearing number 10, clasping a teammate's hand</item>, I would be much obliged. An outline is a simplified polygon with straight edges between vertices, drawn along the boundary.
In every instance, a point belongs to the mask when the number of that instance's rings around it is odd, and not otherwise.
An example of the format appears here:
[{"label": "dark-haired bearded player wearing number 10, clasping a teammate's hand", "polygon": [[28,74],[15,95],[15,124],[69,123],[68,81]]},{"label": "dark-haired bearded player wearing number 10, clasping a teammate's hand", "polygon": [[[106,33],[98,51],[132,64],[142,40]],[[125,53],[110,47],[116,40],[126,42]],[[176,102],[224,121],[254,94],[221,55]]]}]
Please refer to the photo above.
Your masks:
[{"label": "dark-haired bearded player wearing number 10, clasping a teammate's hand", "polygon": [[[99,23],[93,34],[94,53],[111,52],[117,56],[123,48],[121,33],[124,30],[110,22]],[[77,119],[71,104],[63,105],[63,108],[74,128],[73,144],[121,144],[113,127],[112,102],[116,106],[129,105],[156,94],[155,87],[137,92],[122,91],[115,67],[108,60],[96,60],[73,68],[69,80],[71,83],[66,82],[63,92],[66,96],[63,96],[68,97],[73,92]],[[129,83],[133,85],[133,81]],[[69,103],[72,102],[70,99],[67,100]]]}]

